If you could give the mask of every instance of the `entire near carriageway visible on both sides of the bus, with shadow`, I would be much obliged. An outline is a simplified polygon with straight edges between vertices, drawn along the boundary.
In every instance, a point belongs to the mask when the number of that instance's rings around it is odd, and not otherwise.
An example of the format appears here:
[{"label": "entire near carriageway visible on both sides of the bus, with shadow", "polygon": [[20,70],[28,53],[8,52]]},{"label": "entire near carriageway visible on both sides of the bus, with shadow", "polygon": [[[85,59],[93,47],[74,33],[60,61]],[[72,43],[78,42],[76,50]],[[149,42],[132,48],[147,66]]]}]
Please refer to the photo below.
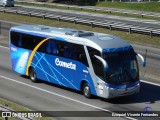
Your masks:
[{"label": "entire near carriageway visible on both sides of the bus, with shadow", "polygon": [[[0,27],[0,97],[37,111],[143,111],[146,106],[160,111],[160,54],[158,46],[133,44],[136,51],[144,54],[148,49],[146,72],[141,69],[141,92],[137,95],[112,100],[94,97],[86,99],[79,92],[49,83],[32,83],[11,71],[8,30],[17,23],[1,21]],[[4,47],[5,46],[5,47]],[[144,77],[143,77],[144,76]],[[156,84],[154,84],[156,83]],[[109,114],[110,112],[108,112]],[[74,119],[74,118],[58,118]],[[82,119],[82,118],[76,118]],[[97,118],[83,118],[97,119]],[[98,118],[106,119],[106,118]],[[112,119],[116,119],[113,118]],[[122,118],[124,119],[124,118]],[[126,118],[125,118],[126,119]],[[132,119],[132,118],[129,118]],[[160,118],[138,118],[144,120]]]}]

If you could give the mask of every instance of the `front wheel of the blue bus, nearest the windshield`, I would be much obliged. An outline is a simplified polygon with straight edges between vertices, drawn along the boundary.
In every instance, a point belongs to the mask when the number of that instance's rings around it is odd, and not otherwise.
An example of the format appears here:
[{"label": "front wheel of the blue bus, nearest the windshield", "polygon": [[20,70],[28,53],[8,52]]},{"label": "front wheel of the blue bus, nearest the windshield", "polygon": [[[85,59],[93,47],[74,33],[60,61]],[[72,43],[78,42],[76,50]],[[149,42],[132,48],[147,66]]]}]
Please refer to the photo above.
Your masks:
[{"label": "front wheel of the blue bus, nearest the windshield", "polygon": [[91,90],[88,83],[84,83],[83,85],[83,95],[86,98],[91,98]]}]

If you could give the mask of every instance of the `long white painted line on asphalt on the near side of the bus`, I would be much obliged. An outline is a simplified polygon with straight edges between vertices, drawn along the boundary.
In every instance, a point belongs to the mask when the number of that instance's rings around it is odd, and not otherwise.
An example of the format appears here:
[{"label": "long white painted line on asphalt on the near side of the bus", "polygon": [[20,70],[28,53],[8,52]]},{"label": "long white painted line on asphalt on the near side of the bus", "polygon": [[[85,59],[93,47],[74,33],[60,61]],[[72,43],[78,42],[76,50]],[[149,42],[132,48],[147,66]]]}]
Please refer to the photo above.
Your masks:
[{"label": "long white painted line on asphalt on the near side of the bus", "polygon": [[[19,84],[22,84],[22,85],[25,85],[25,86],[28,86],[28,87],[31,87],[31,88],[34,88],[34,89],[52,94],[52,95],[56,95],[58,97],[62,97],[64,99],[71,100],[71,101],[74,101],[74,102],[77,102],[77,103],[80,103],[80,104],[83,104],[83,105],[86,105],[86,106],[89,106],[89,107],[92,107],[92,108],[95,108],[95,109],[98,109],[98,110],[101,110],[101,111],[106,111],[106,112],[109,112],[109,113],[113,113],[110,110],[103,109],[103,108],[100,108],[100,107],[97,107],[97,106],[94,106],[94,105],[91,105],[91,104],[88,104],[88,103],[85,103],[85,102],[82,102],[82,101],[79,101],[79,100],[76,100],[76,99],[73,99],[73,98],[69,98],[69,97],[66,97],[66,96],[63,96],[63,95],[60,95],[60,94],[57,94],[57,93],[39,88],[39,87],[36,87],[36,86],[32,86],[32,85],[29,85],[29,84],[26,84],[26,83],[23,83],[23,82],[20,82],[20,81],[17,81],[17,80],[14,80],[14,79],[11,79],[11,78],[8,78],[8,77],[5,77],[5,76],[2,76],[2,75],[0,75],[0,78],[6,79],[6,80],[9,80],[9,81],[12,81],[12,82],[16,82],[16,83],[19,83]],[[132,118],[132,117],[124,117],[124,118],[130,119],[130,120],[137,120],[137,119]]]}]

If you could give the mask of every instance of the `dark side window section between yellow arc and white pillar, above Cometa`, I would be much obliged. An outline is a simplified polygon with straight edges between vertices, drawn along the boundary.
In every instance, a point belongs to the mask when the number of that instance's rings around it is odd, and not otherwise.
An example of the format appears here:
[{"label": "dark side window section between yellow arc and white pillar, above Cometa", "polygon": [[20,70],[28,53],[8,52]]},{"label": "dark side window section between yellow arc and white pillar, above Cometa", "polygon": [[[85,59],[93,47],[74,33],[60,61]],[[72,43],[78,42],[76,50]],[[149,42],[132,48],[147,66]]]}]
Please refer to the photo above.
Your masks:
[{"label": "dark side window section between yellow arc and white pillar, above Cometa", "polygon": [[38,51],[68,59],[74,59],[88,66],[83,45],[50,39],[43,43]]}]

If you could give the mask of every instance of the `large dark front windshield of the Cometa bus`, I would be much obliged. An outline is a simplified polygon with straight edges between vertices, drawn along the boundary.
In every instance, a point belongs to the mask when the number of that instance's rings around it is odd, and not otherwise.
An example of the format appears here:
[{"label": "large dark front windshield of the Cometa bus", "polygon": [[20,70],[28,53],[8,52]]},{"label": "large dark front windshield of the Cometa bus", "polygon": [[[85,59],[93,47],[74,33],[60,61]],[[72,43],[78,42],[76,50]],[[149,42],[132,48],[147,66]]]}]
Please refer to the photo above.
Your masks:
[{"label": "large dark front windshield of the Cometa bus", "polygon": [[111,84],[127,84],[139,80],[136,54],[133,51],[103,53],[108,63],[106,82]]}]

